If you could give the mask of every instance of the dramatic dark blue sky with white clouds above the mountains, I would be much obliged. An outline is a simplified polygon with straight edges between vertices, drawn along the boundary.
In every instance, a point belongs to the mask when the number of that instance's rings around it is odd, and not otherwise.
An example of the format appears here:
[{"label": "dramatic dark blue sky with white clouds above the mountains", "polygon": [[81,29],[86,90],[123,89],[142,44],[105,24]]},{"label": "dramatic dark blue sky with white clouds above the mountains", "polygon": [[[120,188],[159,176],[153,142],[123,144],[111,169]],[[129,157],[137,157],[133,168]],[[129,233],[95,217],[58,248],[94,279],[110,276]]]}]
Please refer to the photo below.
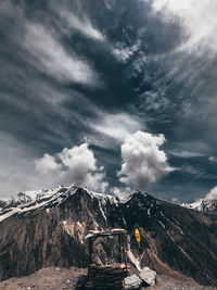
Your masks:
[{"label": "dramatic dark blue sky with white clouds above the mountains", "polygon": [[215,0],[0,2],[0,199],[216,194]]}]

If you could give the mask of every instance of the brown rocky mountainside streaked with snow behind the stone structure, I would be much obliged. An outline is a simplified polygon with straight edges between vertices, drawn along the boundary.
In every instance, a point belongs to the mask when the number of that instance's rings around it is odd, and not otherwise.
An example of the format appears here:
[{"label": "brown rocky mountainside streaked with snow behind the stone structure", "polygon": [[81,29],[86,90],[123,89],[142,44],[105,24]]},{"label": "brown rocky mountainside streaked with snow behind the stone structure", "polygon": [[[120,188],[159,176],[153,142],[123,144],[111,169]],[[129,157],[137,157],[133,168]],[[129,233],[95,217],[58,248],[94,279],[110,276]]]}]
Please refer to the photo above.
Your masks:
[{"label": "brown rocky mountainside streaked with snow behind the stone structure", "polygon": [[[26,197],[24,197],[26,196]],[[21,199],[20,199],[21,198]],[[158,274],[182,273],[217,286],[217,224],[208,215],[133,192],[127,201],[76,186],[23,192],[0,211],[0,279],[43,267],[88,264],[89,229],[126,228],[128,260]],[[135,239],[139,228],[140,247]],[[116,240],[98,240],[98,263],[118,257]]]}]

